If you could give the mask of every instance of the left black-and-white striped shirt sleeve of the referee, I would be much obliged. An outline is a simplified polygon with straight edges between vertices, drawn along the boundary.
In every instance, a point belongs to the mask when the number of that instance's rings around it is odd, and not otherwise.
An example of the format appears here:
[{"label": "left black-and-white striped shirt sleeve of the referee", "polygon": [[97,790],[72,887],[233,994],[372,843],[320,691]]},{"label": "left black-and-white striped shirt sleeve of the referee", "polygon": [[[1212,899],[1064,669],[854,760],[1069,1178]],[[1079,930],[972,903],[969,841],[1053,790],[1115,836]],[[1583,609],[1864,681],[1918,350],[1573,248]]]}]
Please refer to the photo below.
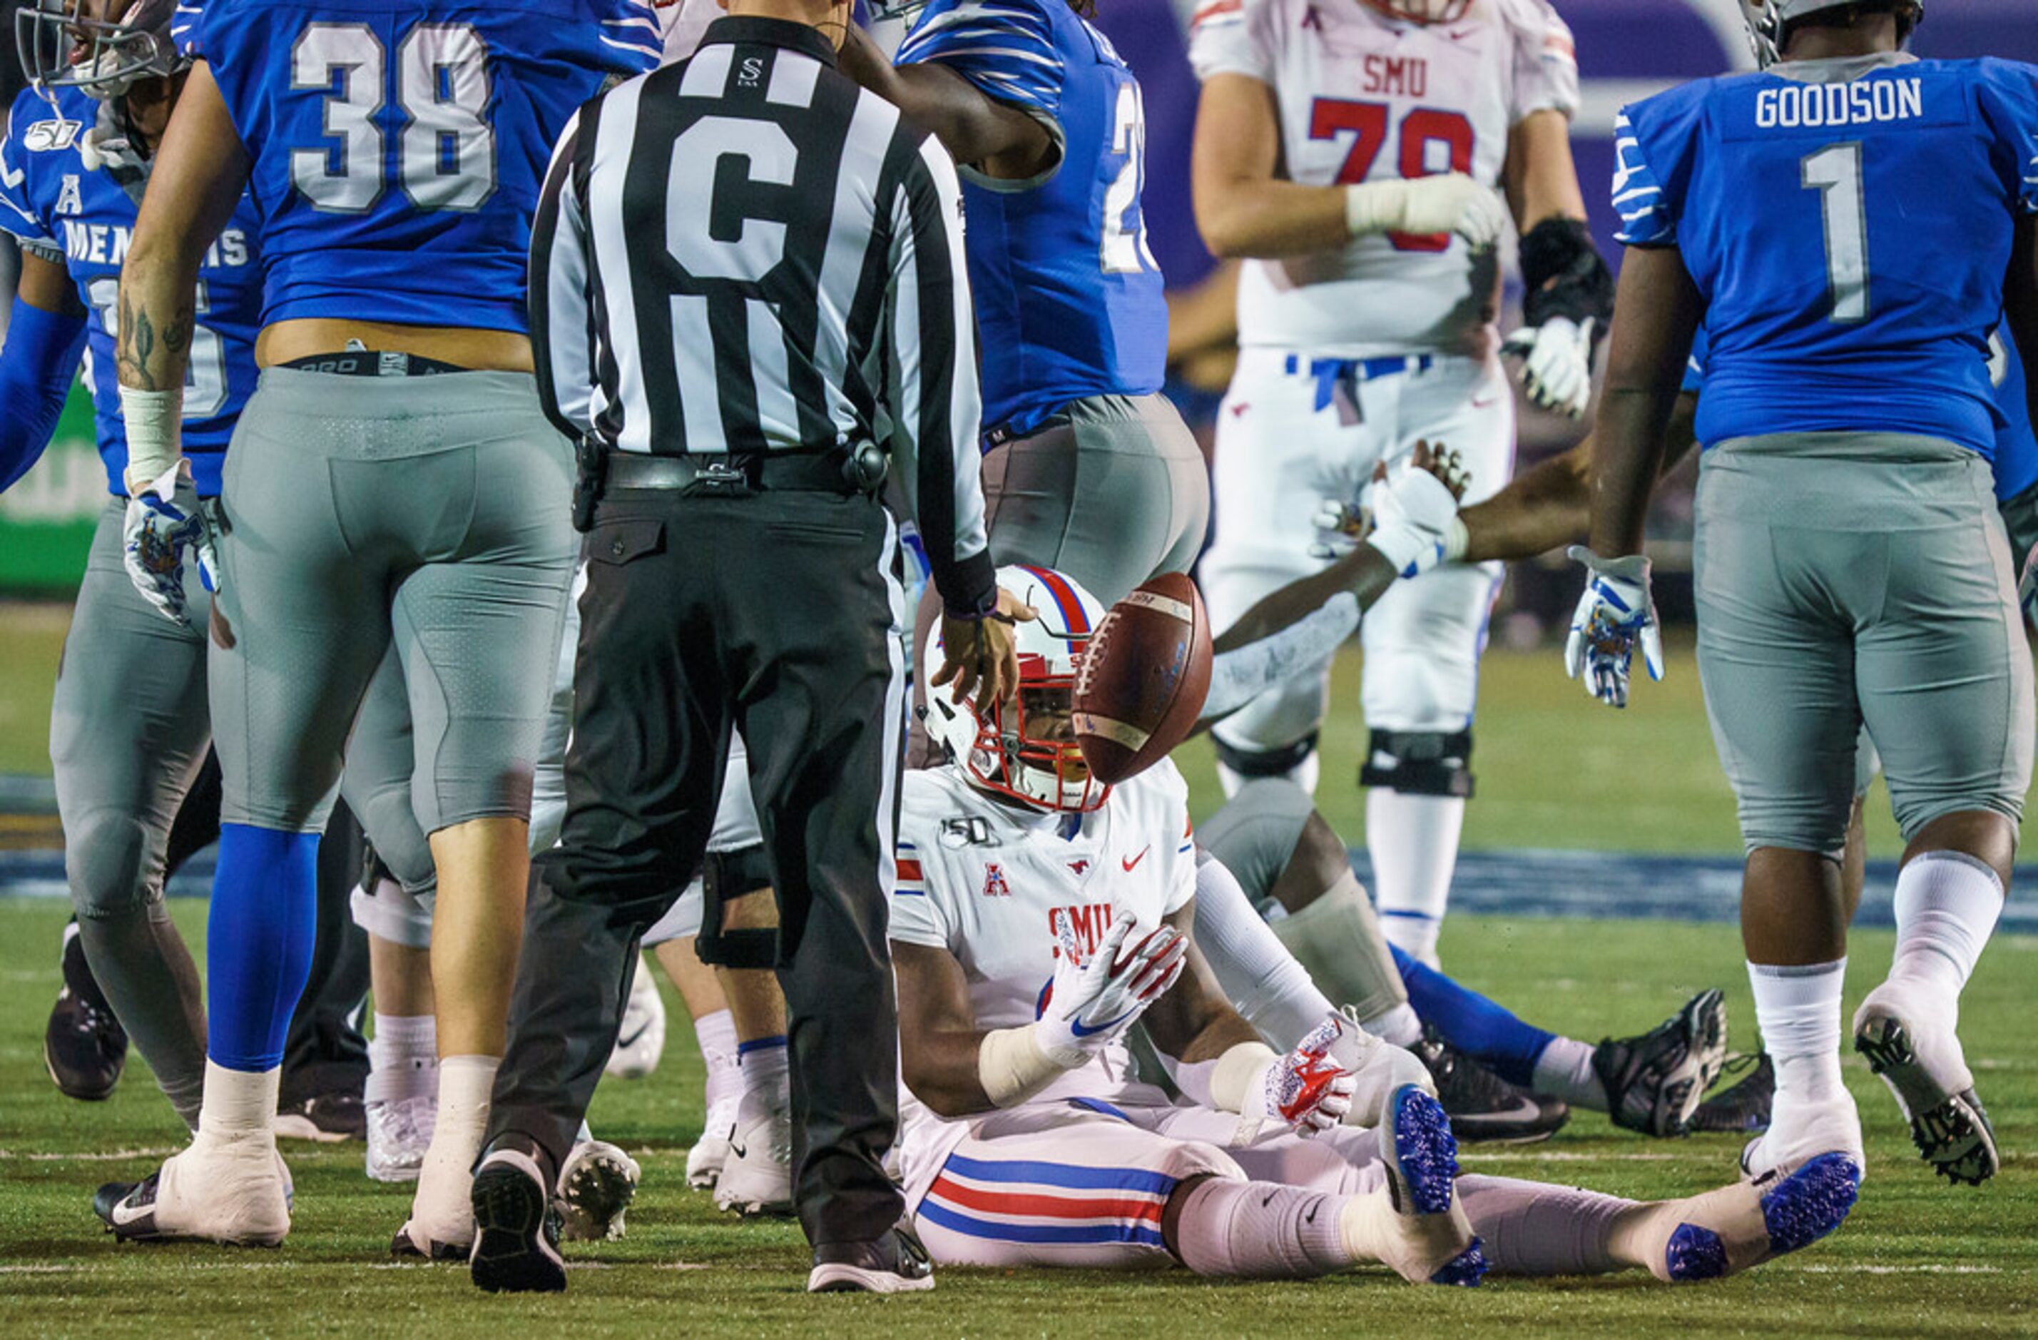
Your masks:
[{"label": "left black-and-white striped shirt sleeve of the referee", "polygon": [[[585,110],[585,108],[583,108]],[[587,135],[595,128],[589,120]],[[575,179],[581,112],[567,122],[530,224],[530,341],[538,402],[569,439],[595,430],[595,322],[587,218]]]}]

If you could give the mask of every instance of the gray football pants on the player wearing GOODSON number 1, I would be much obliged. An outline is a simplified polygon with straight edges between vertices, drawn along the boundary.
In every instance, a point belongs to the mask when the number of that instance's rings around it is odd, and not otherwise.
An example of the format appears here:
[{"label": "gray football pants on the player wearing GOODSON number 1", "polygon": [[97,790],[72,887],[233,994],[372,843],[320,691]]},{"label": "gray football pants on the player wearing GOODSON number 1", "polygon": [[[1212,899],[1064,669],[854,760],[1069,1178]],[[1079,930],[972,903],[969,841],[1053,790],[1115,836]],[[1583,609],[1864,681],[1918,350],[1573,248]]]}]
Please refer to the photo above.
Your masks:
[{"label": "gray football pants on the player wearing GOODSON number 1", "polygon": [[1926,436],[1736,439],[1698,479],[1698,667],[1749,851],[1836,855],[1867,726],[1906,838],[2024,812],[2032,665],[1987,461]]}]

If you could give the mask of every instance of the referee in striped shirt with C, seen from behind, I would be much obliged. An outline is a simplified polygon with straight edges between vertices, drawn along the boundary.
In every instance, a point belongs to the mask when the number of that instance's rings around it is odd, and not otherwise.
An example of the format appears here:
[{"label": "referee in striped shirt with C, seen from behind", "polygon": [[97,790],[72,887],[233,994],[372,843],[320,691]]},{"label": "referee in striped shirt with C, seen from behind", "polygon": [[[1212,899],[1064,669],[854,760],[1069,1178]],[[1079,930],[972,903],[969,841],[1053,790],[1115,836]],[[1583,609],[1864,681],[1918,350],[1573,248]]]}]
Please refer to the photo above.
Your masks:
[{"label": "referee in striped shirt with C, seen from behind", "polygon": [[532,230],[546,410],[583,441],[587,524],[567,822],[542,857],[475,1177],[475,1283],[565,1289],[548,1191],[642,932],[703,865],[730,730],[779,930],[701,957],[774,967],[809,1289],[927,1289],[882,1171],[897,1128],[887,946],[901,755],[891,447],[946,608],[935,681],[1017,685],[976,477],[962,198],[942,147],[836,73],[848,4],[730,0],[693,59],[581,108]]}]

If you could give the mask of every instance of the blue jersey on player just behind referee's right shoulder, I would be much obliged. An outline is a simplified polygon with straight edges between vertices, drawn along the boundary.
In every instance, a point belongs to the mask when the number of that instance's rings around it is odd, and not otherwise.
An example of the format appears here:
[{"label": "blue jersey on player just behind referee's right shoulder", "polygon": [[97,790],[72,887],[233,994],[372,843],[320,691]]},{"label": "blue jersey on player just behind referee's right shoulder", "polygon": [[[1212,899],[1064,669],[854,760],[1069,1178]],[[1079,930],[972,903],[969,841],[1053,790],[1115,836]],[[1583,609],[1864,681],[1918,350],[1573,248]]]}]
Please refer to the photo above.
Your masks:
[{"label": "blue jersey on player just behind referee's right shoulder", "polygon": [[1039,182],[962,169],[984,426],[1029,432],[1082,396],[1145,396],[1168,304],[1145,241],[1145,106],[1133,71],[1066,0],[933,0],[899,63],[937,61],[1060,143]]}]

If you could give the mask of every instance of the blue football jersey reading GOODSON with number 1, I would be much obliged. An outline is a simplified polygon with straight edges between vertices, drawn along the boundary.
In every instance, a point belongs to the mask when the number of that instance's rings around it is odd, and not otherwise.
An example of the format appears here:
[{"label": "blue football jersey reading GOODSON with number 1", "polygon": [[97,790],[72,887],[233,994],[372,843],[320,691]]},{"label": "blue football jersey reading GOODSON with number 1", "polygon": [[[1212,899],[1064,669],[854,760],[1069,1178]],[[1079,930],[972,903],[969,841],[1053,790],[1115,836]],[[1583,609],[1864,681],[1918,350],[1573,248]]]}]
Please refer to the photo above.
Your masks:
[{"label": "blue football jersey reading GOODSON with number 1", "polygon": [[2016,214],[2038,212],[2038,71],[1855,69],[1704,80],[1626,108],[1620,241],[1675,243],[1706,298],[1702,443],[1889,430],[1991,455],[1989,332]]}]

